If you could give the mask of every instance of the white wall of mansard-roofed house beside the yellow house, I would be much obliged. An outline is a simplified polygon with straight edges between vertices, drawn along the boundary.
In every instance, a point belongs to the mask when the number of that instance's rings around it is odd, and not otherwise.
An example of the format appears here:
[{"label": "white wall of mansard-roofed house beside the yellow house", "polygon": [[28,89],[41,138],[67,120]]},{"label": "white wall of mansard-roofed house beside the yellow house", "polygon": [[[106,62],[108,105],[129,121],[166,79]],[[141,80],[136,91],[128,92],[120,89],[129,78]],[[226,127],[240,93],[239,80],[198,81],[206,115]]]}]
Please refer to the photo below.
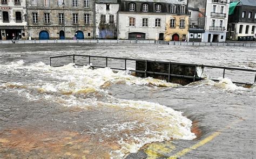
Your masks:
[{"label": "white wall of mansard-roofed house beside the yellow house", "polygon": [[[135,26],[129,26],[129,18],[136,18]],[[142,26],[142,18],[149,19],[149,26]],[[160,27],[155,27],[155,19],[160,18]],[[146,39],[159,39],[159,33],[165,32],[165,15],[145,13],[119,13],[118,39],[128,39],[129,33],[146,33]]]}]

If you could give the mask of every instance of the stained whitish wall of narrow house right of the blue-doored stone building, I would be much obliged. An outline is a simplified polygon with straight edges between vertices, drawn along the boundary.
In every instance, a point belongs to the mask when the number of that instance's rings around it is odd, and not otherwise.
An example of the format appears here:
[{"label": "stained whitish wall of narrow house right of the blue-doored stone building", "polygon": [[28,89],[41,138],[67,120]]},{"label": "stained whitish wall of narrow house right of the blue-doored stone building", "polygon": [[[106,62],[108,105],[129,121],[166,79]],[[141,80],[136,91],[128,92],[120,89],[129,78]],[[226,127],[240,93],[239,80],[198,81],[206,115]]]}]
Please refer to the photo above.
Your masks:
[{"label": "stained whitish wall of narrow house right of the blue-doored stone building", "polygon": [[[109,10],[106,10],[106,4],[109,4]],[[119,4],[116,3],[96,3],[96,38],[99,37],[99,24],[100,16],[106,15],[106,24],[109,24],[110,15],[114,16],[114,25],[117,27],[117,12],[119,10]]]}]

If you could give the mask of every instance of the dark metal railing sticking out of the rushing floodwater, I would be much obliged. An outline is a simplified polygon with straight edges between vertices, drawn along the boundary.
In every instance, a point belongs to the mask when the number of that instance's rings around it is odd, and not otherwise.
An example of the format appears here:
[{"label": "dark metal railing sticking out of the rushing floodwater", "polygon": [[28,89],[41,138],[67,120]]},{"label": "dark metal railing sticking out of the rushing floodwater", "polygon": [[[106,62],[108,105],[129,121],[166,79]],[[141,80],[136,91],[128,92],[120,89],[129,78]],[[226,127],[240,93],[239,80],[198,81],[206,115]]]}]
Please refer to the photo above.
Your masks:
[{"label": "dark metal railing sticking out of the rushing floodwater", "polygon": [[[76,56],[77,57],[87,57],[88,58],[88,63],[85,64],[78,64],[76,63]],[[114,69],[114,70],[127,70],[127,61],[142,61],[145,62],[145,70],[130,70],[132,72],[135,73],[144,73],[145,77],[147,77],[147,74],[156,74],[156,75],[165,75],[168,76],[168,82],[170,82],[170,78],[171,77],[184,77],[184,78],[192,78],[193,81],[195,81],[196,79],[202,79],[201,77],[197,77],[197,67],[200,66],[201,68],[217,68],[217,69],[223,69],[223,78],[225,77],[225,70],[240,70],[240,71],[246,71],[246,72],[253,72],[256,73],[256,70],[252,70],[252,69],[244,69],[244,68],[234,68],[234,67],[221,67],[221,66],[210,66],[210,65],[199,65],[199,64],[190,64],[190,63],[178,63],[178,62],[167,62],[167,61],[151,61],[151,60],[142,60],[142,59],[129,59],[129,58],[122,58],[122,57],[109,57],[109,56],[92,56],[92,55],[76,55],[76,54],[72,54],[72,55],[61,55],[61,56],[51,56],[50,57],[50,66],[51,67],[62,67],[63,65],[57,65],[55,66],[54,64],[52,64],[52,59],[57,59],[60,57],[71,57],[72,62],[76,65],[76,66],[86,66],[86,65],[90,65],[90,67],[92,68],[105,68],[105,67],[109,67],[108,66],[108,60],[109,59],[114,59],[114,60],[124,60],[124,68],[113,68],[110,67],[110,69]],[[98,58],[98,59],[105,59],[105,66],[95,66],[92,65],[91,63],[91,58]],[[147,62],[159,62],[159,63],[166,63],[169,64],[169,73],[159,73],[159,72],[152,72],[152,71],[148,71],[147,70]],[[180,65],[188,65],[188,66],[194,66],[195,70],[194,70],[194,76],[185,76],[185,75],[177,75],[177,74],[171,74],[171,64],[180,64]],[[220,79],[214,79],[214,78],[210,78],[213,81],[220,81]],[[254,75],[254,83],[256,81],[256,74]],[[232,81],[233,83],[236,84],[249,84],[252,85],[253,83],[250,82],[235,82]]]}]

